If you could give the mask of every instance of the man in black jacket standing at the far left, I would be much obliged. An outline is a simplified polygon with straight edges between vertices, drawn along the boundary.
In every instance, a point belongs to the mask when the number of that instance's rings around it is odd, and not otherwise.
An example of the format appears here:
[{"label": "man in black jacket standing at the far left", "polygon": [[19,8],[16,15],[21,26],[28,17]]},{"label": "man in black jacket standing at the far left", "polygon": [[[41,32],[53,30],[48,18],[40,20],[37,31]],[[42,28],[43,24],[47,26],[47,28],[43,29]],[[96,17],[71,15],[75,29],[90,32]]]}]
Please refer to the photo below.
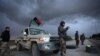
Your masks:
[{"label": "man in black jacket standing at the far left", "polygon": [[[1,34],[2,44],[1,44],[1,56],[6,55],[9,52],[9,41],[10,41],[10,28],[5,27],[5,30]],[[8,55],[8,54],[7,54]]]}]

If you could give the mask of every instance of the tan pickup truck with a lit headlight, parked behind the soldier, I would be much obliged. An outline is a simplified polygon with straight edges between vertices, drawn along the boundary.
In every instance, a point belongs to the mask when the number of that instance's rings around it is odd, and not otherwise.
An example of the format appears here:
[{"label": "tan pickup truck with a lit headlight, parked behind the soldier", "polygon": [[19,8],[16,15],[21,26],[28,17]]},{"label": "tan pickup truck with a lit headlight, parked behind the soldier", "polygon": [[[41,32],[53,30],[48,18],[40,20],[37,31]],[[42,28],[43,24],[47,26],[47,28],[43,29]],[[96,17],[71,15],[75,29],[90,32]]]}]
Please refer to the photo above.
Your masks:
[{"label": "tan pickup truck with a lit headlight, parked behind the soldier", "polygon": [[[45,30],[28,27],[23,29],[22,35],[17,39],[17,50],[26,48],[32,51],[33,56],[42,52],[59,52],[59,38],[52,36]],[[39,53],[39,54],[38,54]]]}]

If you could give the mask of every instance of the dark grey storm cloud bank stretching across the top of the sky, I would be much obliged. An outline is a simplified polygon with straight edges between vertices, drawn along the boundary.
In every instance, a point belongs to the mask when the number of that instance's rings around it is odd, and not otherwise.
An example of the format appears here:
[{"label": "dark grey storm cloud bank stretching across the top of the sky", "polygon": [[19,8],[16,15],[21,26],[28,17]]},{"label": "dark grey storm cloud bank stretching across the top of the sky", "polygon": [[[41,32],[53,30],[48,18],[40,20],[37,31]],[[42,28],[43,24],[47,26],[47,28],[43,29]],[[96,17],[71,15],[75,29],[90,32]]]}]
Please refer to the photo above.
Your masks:
[{"label": "dark grey storm cloud bank stretching across the top of the sky", "polygon": [[34,16],[43,20],[77,13],[97,16],[100,0],[0,0],[0,12],[21,24],[28,24]]}]

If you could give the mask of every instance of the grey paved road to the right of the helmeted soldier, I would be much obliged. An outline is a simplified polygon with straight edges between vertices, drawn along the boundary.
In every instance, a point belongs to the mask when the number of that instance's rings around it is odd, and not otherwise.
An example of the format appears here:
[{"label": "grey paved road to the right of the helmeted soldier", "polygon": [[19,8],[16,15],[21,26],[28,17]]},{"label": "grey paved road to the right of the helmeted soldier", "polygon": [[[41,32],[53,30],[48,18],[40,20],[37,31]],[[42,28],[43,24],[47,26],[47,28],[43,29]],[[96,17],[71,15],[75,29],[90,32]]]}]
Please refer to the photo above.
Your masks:
[{"label": "grey paved road to the right of the helmeted soldier", "polygon": [[[67,42],[67,45],[75,45],[75,41]],[[92,45],[88,40],[85,40],[85,45],[79,45],[76,49],[67,49],[66,56],[99,56],[97,53],[87,53],[85,52],[85,46]]]}]

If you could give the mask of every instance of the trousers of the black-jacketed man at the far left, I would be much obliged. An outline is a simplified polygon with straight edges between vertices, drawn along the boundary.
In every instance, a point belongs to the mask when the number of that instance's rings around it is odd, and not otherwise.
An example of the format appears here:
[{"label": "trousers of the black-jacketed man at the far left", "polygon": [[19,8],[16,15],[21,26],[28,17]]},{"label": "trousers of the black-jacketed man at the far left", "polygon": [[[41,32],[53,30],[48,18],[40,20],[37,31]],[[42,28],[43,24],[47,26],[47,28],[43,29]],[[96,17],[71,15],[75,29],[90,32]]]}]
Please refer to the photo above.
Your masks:
[{"label": "trousers of the black-jacketed man at the far left", "polygon": [[1,56],[10,56],[10,47],[8,42],[1,43]]}]

